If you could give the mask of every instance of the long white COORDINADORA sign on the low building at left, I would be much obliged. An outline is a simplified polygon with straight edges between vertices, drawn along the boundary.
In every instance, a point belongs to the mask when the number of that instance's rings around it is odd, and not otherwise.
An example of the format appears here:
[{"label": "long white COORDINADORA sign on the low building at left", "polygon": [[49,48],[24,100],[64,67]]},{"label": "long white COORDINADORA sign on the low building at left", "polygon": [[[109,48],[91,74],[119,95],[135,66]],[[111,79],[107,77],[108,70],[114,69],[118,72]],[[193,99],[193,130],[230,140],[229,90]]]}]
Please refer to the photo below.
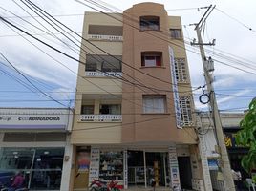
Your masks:
[{"label": "long white COORDINADORA sign on the low building at left", "polygon": [[68,109],[0,109],[0,129],[65,129],[71,119]]}]

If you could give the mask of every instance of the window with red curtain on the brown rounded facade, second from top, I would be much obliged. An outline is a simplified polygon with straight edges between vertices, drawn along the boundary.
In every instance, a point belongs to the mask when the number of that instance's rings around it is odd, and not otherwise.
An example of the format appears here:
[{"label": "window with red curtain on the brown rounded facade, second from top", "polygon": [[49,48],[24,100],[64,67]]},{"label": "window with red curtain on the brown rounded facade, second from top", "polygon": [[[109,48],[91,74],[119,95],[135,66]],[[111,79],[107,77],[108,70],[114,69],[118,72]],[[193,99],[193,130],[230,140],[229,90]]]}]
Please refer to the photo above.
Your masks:
[{"label": "window with red curtain on the brown rounded facade, second from top", "polygon": [[143,52],[141,53],[141,66],[156,67],[161,66],[161,52]]}]

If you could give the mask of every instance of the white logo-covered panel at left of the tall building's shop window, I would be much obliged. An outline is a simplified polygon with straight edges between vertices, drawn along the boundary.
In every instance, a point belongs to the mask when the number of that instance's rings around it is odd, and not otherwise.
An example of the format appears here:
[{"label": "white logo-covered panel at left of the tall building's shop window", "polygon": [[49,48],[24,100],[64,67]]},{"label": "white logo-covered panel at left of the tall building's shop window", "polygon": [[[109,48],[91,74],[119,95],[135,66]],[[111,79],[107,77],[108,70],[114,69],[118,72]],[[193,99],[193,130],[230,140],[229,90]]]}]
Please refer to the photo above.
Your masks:
[{"label": "white logo-covered panel at left of the tall building's shop window", "polygon": [[91,148],[91,164],[90,164],[90,173],[89,173],[89,183],[92,180],[98,180],[99,177],[99,148]]}]

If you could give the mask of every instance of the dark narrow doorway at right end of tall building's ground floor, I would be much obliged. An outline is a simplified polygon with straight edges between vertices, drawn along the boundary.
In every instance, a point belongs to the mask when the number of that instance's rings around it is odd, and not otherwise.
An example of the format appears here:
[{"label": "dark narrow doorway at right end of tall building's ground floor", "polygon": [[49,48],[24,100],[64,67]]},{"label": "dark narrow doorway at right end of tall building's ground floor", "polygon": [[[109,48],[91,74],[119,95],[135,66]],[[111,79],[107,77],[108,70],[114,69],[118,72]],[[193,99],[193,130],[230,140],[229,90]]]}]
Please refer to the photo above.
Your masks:
[{"label": "dark narrow doorway at right end of tall building's ground floor", "polygon": [[192,189],[190,157],[178,157],[181,189]]}]

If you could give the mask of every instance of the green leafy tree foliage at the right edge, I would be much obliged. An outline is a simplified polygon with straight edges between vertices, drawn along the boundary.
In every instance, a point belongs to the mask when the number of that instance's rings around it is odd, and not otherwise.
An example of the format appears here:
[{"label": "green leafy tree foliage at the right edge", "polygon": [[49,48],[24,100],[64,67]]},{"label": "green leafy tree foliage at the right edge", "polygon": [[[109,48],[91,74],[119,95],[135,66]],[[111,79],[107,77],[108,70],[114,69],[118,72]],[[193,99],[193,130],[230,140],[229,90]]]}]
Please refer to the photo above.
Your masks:
[{"label": "green leafy tree foliage at the right edge", "polygon": [[236,135],[236,143],[249,149],[241,164],[250,173],[252,169],[256,169],[256,98],[249,104],[248,112],[240,122],[240,127],[242,130]]}]

